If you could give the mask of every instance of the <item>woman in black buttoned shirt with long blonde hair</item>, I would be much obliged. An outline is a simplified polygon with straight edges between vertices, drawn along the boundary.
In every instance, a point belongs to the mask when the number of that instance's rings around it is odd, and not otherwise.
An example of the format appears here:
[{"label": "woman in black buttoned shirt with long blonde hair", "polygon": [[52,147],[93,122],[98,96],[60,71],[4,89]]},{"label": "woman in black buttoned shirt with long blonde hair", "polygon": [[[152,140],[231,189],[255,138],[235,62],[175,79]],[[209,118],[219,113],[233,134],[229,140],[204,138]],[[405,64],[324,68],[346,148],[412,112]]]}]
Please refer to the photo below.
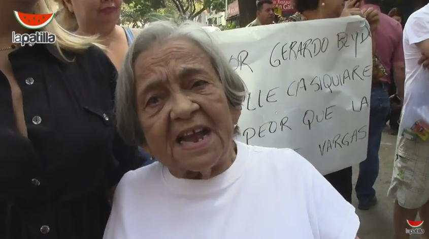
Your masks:
[{"label": "woman in black buttoned shirt with long blonde hair", "polygon": [[40,31],[52,44],[20,46],[34,34],[15,19],[52,13],[51,0],[9,1],[0,8],[0,238],[102,238],[107,194],[142,164],[137,147],[117,136],[116,69],[92,43],[53,20]]}]

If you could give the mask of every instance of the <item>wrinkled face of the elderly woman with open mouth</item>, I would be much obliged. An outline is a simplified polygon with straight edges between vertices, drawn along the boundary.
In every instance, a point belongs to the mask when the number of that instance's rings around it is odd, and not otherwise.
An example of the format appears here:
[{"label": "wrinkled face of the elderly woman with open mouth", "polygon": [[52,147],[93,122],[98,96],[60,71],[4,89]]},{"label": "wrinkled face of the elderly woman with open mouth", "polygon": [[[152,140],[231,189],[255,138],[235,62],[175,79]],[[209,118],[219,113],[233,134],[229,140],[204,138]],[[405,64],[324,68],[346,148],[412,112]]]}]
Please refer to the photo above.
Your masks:
[{"label": "wrinkled face of the elderly woman with open mouth", "polygon": [[134,73],[144,150],[170,170],[220,163],[241,110],[228,103],[207,54],[189,40],[170,39],[142,52]]}]

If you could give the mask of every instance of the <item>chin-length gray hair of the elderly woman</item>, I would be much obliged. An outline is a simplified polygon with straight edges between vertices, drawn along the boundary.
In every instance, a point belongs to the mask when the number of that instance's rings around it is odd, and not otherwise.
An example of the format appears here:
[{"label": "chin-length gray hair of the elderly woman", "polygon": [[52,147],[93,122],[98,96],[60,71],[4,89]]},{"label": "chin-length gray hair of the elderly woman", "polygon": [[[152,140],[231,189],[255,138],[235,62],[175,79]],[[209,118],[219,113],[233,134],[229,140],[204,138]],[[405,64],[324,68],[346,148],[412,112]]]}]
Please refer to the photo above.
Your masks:
[{"label": "chin-length gray hair of the elderly woman", "polygon": [[[233,107],[240,108],[246,98],[247,88],[241,77],[232,69],[220,48],[210,35],[197,23],[156,21],[149,23],[129,47],[116,86],[116,120],[119,134],[127,143],[145,145],[146,138],[137,116],[134,64],[137,57],[171,38],[186,38],[196,43],[210,57],[222,82],[225,96]],[[238,129],[236,129],[238,130]]]}]

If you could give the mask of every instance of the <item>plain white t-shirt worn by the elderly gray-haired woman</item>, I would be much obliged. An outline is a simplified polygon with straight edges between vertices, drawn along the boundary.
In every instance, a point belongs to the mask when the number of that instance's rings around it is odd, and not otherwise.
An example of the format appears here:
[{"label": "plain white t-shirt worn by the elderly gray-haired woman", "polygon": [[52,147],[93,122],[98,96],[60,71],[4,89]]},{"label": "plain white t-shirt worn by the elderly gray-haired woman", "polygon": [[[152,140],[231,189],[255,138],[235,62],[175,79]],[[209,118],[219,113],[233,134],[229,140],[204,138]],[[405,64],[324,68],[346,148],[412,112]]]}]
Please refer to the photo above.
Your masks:
[{"label": "plain white t-shirt worn by the elderly gray-haired woman", "polygon": [[160,163],[119,183],[104,239],[354,239],[354,207],[289,149],[237,142],[237,159],[210,180]]}]

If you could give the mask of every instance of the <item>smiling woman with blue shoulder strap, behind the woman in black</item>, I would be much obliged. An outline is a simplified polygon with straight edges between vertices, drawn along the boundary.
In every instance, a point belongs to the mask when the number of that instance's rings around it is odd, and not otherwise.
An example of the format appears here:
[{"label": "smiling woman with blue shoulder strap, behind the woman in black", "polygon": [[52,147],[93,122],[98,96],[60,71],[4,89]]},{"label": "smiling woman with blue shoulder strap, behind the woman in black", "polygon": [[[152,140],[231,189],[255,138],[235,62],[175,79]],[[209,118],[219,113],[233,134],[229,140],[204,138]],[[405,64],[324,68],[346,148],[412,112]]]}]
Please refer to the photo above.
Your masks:
[{"label": "smiling woman with blue shoulder strap, behind the woman in black", "polygon": [[[106,46],[107,55],[119,70],[128,46],[133,43],[137,34],[137,29],[116,24],[119,21],[122,0],[55,1],[60,8],[57,19],[61,26],[82,36],[97,35],[98,41]],[[146,158],[145,165],[154,161],[141,148],[140,152]]]}]

